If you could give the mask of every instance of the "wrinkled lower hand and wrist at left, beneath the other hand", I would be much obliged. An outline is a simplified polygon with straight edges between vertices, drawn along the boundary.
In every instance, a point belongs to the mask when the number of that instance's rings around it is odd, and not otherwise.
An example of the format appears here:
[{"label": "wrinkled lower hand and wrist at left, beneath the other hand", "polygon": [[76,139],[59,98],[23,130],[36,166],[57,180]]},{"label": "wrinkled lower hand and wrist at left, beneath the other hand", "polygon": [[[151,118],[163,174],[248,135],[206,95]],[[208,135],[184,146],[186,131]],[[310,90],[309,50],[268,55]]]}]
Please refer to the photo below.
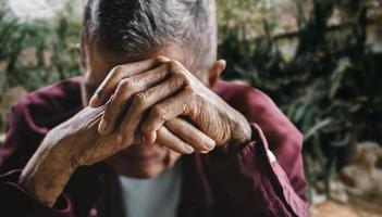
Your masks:
[{"label": "wrinkled lower hand and wrist at left, beneath the other hand", "polygon": [[[115,145],[116,132],[100,135],[97,131],[103,112],[104,106],[85,107],[50,130],[24,167],[20,184],[36,200],[52,206],[79,166],[93,165],[118,153],[121,149]],[[182,128],[190,126],[185,122],[175,122],[173,125]],[[159,131],[158,139],[161,141],[172,136],[165,126]],[[195,133],[195,140],[207,137],[200,135]],[[138,139],[133,138],[130,145],[139,143]]]}]

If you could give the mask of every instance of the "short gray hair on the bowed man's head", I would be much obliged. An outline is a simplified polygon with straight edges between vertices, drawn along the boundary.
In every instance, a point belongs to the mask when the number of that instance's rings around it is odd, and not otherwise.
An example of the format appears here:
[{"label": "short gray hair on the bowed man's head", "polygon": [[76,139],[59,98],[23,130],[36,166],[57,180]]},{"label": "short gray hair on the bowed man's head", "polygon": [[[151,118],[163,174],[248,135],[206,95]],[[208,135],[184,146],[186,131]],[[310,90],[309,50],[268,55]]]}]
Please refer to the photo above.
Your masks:
[{"label": "short gray hair on the bowed man's head", "polygon": [[177,43],[198,67],[217,59],[214,0],[89,0],[84,26],[111,52],[137,56]]}]

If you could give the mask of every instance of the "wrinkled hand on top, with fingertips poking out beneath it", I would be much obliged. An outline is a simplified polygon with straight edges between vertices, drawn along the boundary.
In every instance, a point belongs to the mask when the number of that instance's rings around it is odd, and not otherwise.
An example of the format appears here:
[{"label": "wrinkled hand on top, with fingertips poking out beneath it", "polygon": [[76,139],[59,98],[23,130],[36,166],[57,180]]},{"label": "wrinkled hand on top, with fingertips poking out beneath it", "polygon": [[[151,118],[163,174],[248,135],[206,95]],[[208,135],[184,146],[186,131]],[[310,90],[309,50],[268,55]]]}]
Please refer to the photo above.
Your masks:
[{"label": "wrinkled hand on top, with fingertips poking out beneath it", "polygon": [[[121,146],[128,145],[136,135],[143,133],[146,144],[158,141],[182,154],[193,150],[206,153],[214,144],[227,148],[243,144],[250,138],[249,124],[242,114],[181,63],[163,56],[114,67],[90,100],[94,107],[103,103],[107,107],[99,131],[107,135],[120,126],[118,144]],[[187,126],[184,119],[198,129],[184,127]],[[158,135],[163,133],[162,126],[174,135],[159,138]],[[206,138],[195,141],[194,135],[200,133],[198,130]]]}]

